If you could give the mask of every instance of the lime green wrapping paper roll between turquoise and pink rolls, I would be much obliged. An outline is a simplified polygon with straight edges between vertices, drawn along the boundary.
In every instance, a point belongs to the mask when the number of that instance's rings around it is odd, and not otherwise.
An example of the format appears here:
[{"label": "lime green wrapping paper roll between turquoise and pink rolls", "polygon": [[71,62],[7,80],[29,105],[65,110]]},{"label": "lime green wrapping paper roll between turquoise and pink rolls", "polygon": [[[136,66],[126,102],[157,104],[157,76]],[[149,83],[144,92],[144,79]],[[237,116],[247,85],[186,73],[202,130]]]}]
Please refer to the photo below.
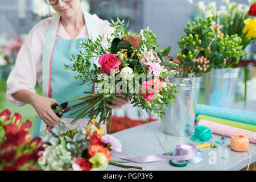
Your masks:
[{"label": "lime green wrapping paper roll between turquoise and pink rolls", "polygon": [[231,121],[231,120],[228,120],[228,119],[211,117],[211,116],[202,115],[202,114],[197,116],[196,122],[199,122],[200,119],[205,119],[207,121],[212,121],[212,122],[220,123],[220,124],[223,124],[223,125],[237,127],[239,129],[243,129],[243,130],[249,130],[249,131],[256,132],[256,125],[249,125],[249,124],[246,124],[246,123]]}]

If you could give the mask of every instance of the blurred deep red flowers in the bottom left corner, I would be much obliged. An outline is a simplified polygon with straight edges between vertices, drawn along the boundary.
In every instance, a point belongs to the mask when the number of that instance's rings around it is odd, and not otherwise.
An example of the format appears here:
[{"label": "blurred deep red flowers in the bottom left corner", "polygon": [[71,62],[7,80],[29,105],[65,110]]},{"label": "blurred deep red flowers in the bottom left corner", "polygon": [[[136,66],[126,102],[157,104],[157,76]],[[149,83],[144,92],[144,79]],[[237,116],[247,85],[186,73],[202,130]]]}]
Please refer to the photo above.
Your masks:
[{"label": "blurred deep red flowers in the bottom left corner", "polygon": [[31,138],[31,122],[22,123],[22,116],[9,110],[0,113],[0,171],[40,170],[38,160],[49,145],[39,137]]}]

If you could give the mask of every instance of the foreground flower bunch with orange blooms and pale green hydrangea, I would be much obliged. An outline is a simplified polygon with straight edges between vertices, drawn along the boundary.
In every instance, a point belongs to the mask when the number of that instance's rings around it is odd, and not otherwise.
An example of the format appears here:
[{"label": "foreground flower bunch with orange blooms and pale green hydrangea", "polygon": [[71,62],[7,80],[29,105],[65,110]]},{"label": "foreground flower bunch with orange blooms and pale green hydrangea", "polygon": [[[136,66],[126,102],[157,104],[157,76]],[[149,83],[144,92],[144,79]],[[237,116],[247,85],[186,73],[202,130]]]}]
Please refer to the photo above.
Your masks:
[{"label": "foreground flower bunch with orange blooms and pale green hydrangea", "polygon": [[41,133],[44,142],[51,143],[39,161],[43,170],[89,171],[105,169],[112,157],[111,151],[122,151],[122,144],[112,135],[102,134],[97,121],[90,121],[88,127],[70,130],[61,120],[52,133]]}]

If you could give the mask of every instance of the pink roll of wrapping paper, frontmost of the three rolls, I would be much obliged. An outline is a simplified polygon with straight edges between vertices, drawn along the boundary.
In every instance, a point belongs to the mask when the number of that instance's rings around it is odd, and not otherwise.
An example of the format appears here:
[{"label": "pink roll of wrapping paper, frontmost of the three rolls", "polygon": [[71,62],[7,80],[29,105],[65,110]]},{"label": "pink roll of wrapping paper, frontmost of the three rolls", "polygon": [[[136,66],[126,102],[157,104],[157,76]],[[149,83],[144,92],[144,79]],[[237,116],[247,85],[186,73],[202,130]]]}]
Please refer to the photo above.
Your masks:
[{"label": "pink roll of wrapping paper, frontmost of the three rolls", "polygon": [[[200,121],[197,123],[198,126],[207,126],[210,130],[212,130],[212,133],[214,131],[220,132],[226,137],[232,137],[233,135],[245,135],[249,142],[256,143],[256,132],[249,131],[249,130],[243,130],[238,129],[237,127],[228,126],[228,125],[222,125],[220,123],[207,121],[205,119],[200,119]],[[220,135],[219,133],[216,133]]]}]

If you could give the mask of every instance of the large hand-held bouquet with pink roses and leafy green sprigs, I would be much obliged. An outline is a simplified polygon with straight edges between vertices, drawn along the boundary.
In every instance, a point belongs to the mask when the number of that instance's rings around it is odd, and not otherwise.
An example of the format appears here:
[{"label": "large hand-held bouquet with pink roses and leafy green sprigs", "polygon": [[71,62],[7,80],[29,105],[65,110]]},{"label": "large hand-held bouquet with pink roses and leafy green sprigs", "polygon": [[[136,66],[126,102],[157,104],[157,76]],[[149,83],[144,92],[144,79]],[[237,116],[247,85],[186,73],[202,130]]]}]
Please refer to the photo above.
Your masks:
[{"label": "large hand-held bouquet with pink roses and leafy green sprigs", "polygon": [[[77,114],[72,123],[86,114],[91,120],[99,117],[99,123],[107,120],[111,123],[112,109],[105,104],[112,105],[111,100],[117,93],[125,94],[125,99],[129,99],[134,107],[152,111],[160,119],[162,108],[175,102],[176,85],[171,84],[167,77],[175,71],[161,65],[171,47],[159,48],[156,36],[148,28],[141,30],[140,34],[129,33],[129,23],[125,26],[124,22],[118,18],[117,22],[112,20],[110,26],[114,27],[114,32],[107,38],[108,47],[102,46],[102,36],[85,40],[81,43],[80,55],[72,55],[72,67],[65,65],[65,69],[79,73],[76,79],[80,80],[80,85],[94,84],[96,88],[94,93],[85,92],[85,96],[73,99],[84,101],[74,108],[79,108],[78,111],[71,113]],[[98,65],[93,64],[93,69],[90,69],[92,58],[98,60]]]}]

